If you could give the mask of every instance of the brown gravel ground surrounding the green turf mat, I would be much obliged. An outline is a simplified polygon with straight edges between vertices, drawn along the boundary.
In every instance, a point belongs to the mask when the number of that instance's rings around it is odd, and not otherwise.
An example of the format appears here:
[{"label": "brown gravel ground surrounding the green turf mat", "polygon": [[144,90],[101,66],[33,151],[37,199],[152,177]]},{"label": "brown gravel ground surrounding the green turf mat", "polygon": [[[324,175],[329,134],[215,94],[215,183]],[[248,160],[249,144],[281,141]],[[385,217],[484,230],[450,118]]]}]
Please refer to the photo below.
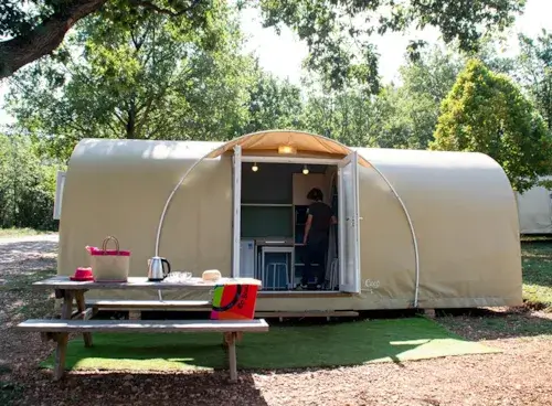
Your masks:
[{"label": "brown gravel ground surrounding the green turf mat", "polygon": [[[53,349],[12,327],[52,313],[31,291],[52,275],[55,236],[0,239],[0,405],[552,405],[552,314],[524,309],[437,317],[503,353],[331,370],[179,374],[71,373],[61,383],[36,363]],[[44,300],[49,301],[44,306]]]}]

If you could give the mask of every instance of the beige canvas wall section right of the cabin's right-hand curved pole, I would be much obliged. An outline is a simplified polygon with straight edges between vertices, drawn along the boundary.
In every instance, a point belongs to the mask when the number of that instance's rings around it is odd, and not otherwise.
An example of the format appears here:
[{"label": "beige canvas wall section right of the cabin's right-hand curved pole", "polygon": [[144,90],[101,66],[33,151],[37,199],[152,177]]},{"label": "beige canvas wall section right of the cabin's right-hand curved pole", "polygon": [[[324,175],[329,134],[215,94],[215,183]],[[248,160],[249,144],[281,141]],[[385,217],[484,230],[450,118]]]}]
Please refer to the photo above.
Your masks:
[{"label": "beige canvas wall section right of the cabin's right-hand curved pole", "polygon": [[493,160],[428,151],[365,158],[388,177],[411,215],[421,308],[521,304],[517,206]]}]

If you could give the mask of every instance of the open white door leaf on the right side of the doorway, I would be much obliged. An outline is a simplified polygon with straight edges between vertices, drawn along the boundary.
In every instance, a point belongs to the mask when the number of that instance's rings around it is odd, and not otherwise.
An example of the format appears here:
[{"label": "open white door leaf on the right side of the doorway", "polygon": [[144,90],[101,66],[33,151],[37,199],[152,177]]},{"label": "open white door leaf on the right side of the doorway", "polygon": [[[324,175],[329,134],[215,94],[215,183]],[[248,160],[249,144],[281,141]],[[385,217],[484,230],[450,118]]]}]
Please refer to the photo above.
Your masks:
[{"label": "open white door leaf on the right side of the doorway", "polygon": [[352,152],[339,167],[339,289],[360,292],[360,217],[358,154]]}]

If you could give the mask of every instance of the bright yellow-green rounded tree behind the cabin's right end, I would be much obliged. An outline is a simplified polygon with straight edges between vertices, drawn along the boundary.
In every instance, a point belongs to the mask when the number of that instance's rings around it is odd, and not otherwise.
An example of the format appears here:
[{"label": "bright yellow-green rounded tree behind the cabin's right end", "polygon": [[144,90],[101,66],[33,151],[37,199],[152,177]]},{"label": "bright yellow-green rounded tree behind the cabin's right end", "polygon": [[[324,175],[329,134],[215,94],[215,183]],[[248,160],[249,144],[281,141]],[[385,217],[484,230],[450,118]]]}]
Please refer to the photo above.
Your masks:
[{"label": "bright yellow-green rounded tree behind the cabin's right end", "polygon": [[433,150],[492,157],[522,193],[552,169],[552,141],[542,117],[502,74],[470,60],[443,101]]}]

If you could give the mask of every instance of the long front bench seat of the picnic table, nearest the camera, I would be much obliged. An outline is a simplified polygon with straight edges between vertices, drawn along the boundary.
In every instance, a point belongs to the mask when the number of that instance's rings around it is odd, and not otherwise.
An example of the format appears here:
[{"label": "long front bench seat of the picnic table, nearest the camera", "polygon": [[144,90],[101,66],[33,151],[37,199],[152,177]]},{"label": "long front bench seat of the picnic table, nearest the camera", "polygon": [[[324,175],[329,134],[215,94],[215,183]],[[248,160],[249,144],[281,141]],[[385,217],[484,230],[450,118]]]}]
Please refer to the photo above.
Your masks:
[{"label": "long front bench seat of the picnic table, nearest the camera", "polygon": [[42,332],[266,332],[264,319],[254,320],[49,320],[31,319],[18,329]]}]

